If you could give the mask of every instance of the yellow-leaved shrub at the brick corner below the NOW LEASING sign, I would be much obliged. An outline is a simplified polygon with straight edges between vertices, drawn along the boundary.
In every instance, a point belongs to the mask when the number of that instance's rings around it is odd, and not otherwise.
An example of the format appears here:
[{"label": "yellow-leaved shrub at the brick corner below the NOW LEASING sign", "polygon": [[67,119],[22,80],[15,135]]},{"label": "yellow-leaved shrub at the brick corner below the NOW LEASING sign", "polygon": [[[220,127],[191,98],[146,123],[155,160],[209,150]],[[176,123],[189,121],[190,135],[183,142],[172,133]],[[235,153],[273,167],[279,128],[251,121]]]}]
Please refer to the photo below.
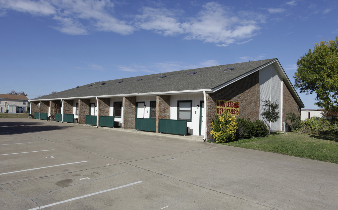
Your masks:
[{"label": "yellow-leaved shrub at the brick corner below the NOW LEASING sign", "polygon": [[219,143],[234,141],[236,137],[236,118],[228,113],[216,116],[211,123],[212,138]]}]

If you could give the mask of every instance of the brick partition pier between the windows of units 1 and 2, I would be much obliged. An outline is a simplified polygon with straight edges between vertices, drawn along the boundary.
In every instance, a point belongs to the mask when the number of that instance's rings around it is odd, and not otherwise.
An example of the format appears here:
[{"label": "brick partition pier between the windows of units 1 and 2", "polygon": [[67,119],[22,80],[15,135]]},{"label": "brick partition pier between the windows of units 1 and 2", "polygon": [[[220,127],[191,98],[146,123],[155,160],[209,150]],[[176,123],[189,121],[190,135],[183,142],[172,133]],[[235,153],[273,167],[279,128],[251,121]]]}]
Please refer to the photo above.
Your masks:
[{"label": "brick partition pier between the windows of units 1 and 2", "polygon": [[156,133],[159,132],[159,119],[170,119],[170,95],[156,96]]}]

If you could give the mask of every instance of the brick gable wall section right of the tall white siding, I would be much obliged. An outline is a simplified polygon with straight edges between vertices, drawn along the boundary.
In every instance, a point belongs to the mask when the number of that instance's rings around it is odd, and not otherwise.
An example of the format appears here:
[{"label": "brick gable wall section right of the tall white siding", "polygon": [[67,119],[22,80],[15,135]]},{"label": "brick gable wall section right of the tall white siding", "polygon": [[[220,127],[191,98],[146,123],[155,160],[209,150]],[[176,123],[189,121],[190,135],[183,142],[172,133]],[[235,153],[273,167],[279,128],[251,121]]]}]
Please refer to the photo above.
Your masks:
[{"label": "brick gable wall section right of the tall white siding", "polygon": [[289,120],[285,120],[286,113],[293,112],[296,115],[300,117],[300,107],[298,106],[296,100],[290,93],[289,88],[285,85],[285,82],[283,81],[283,121],[287,121],[288,124],[290,124]]}]

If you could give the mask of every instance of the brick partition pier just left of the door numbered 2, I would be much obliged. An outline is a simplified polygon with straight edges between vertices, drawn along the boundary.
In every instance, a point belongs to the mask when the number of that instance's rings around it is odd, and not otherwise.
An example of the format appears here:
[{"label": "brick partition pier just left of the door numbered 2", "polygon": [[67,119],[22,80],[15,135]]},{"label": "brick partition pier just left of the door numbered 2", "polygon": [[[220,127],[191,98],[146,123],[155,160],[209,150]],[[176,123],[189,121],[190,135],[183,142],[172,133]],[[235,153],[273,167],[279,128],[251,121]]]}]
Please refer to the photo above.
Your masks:
[{"label": "brick partition pier just left of the door numbered 2", "polygon": [[123,97],[123,129],[135,128],[136,97]]}]

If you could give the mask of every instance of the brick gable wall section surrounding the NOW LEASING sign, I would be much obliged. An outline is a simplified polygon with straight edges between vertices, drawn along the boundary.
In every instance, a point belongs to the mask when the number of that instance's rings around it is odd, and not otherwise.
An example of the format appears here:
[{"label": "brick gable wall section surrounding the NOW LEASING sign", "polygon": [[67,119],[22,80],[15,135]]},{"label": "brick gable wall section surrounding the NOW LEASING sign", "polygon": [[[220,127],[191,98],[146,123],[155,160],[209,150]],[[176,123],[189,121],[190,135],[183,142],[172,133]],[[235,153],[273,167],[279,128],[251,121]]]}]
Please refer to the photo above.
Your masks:
[{"label": "brick gable wall section surrounding the NOW LEASING sign", "polygon": [[212,138],[211,122],[216,116],[216,100],[239,102],[239,117],[259,119],[259,72],[207,94],[207,139]]}]

